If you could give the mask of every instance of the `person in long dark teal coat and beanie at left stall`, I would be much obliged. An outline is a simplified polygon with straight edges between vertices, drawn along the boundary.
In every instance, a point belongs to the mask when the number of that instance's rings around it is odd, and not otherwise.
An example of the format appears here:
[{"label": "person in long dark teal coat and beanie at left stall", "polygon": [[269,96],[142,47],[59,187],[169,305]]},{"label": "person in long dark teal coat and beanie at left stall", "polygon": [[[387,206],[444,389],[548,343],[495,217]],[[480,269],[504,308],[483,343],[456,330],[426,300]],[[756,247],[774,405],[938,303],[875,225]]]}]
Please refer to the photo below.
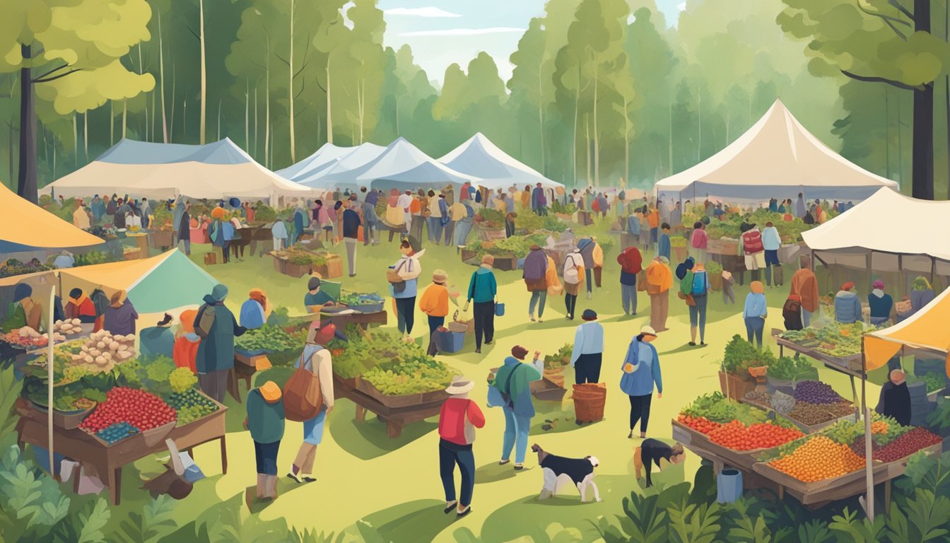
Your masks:
[{"label": "person in long dark teal coat and beanie at left stall", "polygon": [[247,332],[237,324],[234,313],[224,305],[228,287],[216,284],[195,317],[195,333],[201,338],[195,366],[201,391],[224,401],[228,372],[235,367],[235,337]]}]

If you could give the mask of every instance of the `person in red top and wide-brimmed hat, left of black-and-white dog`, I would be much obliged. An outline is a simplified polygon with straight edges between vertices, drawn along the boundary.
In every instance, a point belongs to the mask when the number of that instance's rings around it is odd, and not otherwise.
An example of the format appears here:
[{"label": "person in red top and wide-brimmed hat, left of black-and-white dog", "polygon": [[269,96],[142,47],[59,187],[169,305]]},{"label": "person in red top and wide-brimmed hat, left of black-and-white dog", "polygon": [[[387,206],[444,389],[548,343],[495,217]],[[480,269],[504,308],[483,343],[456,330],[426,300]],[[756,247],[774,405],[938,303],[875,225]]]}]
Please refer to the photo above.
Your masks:
[{"label": "person in red top and wide-brimmed hat, left of black-and-white dog", "polygon": [[[475,383],[462,377],[452,379],[446,392],[449,398],[442,404],[439,413],[439,475],[446,490],[446,509],[455,510],[458,518],[472,512],[472,492],[475,490],[475,456],[472,441],[475,429],[485,427],[485,415],[478,403],[468,398]],[[459,499],[455,497],[455,465],[462,472],[462,488]]]}]

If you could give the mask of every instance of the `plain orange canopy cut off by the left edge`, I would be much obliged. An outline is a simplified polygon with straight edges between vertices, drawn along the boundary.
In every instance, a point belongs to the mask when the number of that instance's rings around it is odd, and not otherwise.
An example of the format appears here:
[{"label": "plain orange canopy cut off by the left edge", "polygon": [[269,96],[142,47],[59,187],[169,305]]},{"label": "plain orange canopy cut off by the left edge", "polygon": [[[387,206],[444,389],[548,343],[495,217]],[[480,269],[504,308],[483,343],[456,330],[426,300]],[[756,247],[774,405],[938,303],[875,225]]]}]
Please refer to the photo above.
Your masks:
[{"label": "plain orange canopy cut off by the left edge", "polygon": [[30,247],[85,247],[103,241],[0,184],[0,240]]}]

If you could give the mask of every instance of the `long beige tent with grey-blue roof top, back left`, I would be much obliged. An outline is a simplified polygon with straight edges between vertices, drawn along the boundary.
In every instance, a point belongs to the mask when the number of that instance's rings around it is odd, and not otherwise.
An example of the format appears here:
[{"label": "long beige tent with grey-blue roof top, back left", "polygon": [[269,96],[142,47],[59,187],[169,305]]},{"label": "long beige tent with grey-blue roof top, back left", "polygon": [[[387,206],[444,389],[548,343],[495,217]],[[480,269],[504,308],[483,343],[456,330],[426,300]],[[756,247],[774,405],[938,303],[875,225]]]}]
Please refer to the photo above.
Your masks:
[{"label": "long beige tent with grey-blue roof top, back left", "polygon": [[180,145],[122,140],[95,161],[40,189],[66,197],[129,194],[136,197],[306,197],[295,184],[257,164],[231,140]]}]

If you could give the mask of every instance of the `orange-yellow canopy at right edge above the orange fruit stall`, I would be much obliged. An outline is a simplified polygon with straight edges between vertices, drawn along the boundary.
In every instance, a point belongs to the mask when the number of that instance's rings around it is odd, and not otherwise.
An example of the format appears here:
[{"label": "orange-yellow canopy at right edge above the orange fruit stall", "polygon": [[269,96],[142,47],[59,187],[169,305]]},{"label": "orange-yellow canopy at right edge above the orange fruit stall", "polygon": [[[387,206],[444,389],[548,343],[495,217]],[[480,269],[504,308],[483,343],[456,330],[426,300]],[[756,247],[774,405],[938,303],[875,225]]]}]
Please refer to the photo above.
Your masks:
[{"label": "orange-yellow canopy at right edge above the orange fruit stall", "polygon": [[[940,353],[950,352],[950,335],[946,332],[950,322],[950,289],[944,290],[910,319],[890,328],[864,335],[864,363],[868,370],[880,368],[902,346],[927,349]],[[950,376],[950,360],[947,364]]]}]

